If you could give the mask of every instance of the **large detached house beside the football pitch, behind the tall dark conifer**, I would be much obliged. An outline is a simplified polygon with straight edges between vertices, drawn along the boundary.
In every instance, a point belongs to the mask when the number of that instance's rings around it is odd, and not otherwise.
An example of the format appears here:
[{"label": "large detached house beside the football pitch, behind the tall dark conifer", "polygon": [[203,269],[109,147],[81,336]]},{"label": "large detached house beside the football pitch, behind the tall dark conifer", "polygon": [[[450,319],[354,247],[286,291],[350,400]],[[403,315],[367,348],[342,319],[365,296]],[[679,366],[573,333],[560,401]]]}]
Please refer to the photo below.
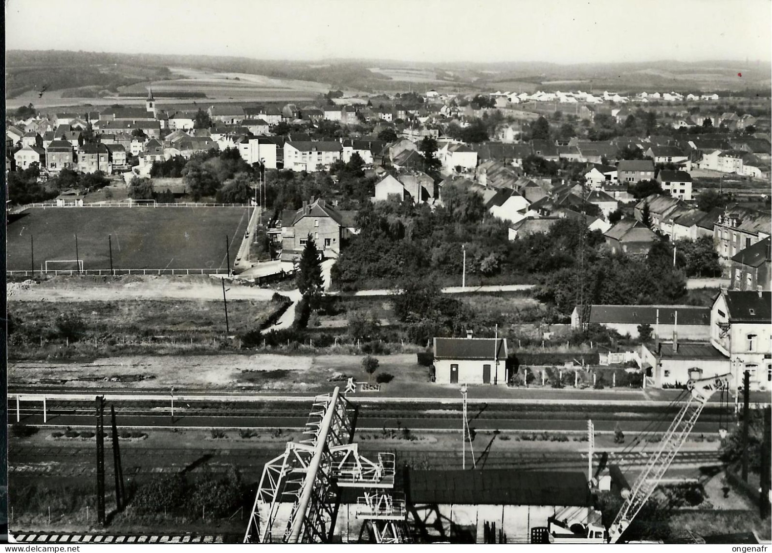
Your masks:
[{"label": "large detached house beside the football pitch, behind the tall dark conifer", "polygon": [[309,235],[324,256],[337,257],[341,243],[358,233],[356,215],[353,211],[339,211],[323,199],[305,202],[295,212],[291,225],[282,228],[282,260],[300,260]]}]

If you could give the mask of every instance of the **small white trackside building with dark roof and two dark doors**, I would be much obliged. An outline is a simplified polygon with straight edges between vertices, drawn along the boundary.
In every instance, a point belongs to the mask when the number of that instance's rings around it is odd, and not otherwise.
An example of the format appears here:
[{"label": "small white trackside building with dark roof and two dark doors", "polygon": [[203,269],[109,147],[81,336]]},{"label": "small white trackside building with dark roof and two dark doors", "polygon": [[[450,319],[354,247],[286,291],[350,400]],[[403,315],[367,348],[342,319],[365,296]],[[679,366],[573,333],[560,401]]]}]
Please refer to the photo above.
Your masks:
[{"label": "small white trackside building with dark roof and two dark doors", "polygon": [[435,338],[435,382],[506,384],[505,338]]}]

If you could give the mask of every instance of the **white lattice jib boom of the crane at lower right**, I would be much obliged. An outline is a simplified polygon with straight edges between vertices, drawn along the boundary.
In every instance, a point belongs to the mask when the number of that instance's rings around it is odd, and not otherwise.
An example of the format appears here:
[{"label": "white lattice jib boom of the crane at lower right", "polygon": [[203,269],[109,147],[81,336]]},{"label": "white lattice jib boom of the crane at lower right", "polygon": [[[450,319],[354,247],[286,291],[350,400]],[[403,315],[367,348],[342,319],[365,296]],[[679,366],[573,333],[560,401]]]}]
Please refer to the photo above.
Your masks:
[{"label": "white lattice jib boom of the crane at lower right", "polygon": [[659,449],[649,457],[645,468],[638,475],[638,479],[632,486],[630,495],[625,500],[611,527],[608,529],[608,542],[616,543],[621,534],[641,511],[655,488],[659,484],[665,472],[670,467],[675,455],[681,449],[689,433],[692,432],[699,414],[717,390],[728,388],[728,375],[690,380],[686,388],[691,392],[689,399],[679,410],[675,419],[660,442]]}]

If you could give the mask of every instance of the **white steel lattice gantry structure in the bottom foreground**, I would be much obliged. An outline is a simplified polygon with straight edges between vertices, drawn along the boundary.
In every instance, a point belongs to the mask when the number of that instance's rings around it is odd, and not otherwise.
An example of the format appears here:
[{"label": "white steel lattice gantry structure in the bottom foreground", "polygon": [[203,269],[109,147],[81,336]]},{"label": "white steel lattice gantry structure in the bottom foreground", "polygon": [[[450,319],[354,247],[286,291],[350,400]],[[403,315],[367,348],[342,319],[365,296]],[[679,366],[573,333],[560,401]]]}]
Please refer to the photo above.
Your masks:
[{"label": "white steel lattice gantry structure in the bottom foreground", "polygon": [[[255,504],[249,516],[244,543],[327,543],[333,538],[340,488],[383,490],[394,487],[394,454],[378,453],[378,461],[359,453],[353,443],[357,411],[340,395],[340,388],[317,395],[299,443],[289,442],[280,456],[266,463]],[[366,497],[377,494],[367,493]],[[386,494],[380,492],[378,497]],[[392,502],[391,498],[388,499]],[[379,501],[386,501],[381,499]],[[279,522],[291,503],[286,525]],[[285,506],[284,508],[282,506]],[[378,501],[373,504],[378,505]],[[404,511],[404,501],[402,502]],[[357,511],[358,512],[358,511]],[[383,543],[404,541],[405,532],[394,532],[391,519],[369,519]],[[402,515],[402,521],[405,514]],[[404,523],[403,523],[404,524]]]}]

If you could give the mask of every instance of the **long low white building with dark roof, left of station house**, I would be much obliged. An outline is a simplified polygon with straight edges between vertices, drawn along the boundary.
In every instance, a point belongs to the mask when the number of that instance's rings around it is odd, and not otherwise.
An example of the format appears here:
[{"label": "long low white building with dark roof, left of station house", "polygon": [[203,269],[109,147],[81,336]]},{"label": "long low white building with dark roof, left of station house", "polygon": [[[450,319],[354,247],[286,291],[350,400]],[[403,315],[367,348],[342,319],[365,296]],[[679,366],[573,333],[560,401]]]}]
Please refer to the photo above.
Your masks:
[{"label": "long low white building with dark roof, left of station house", "polygon": [[[640,338],[638,326],[652,327],[652,338],[670,338],[677,333],[684,340],[710,339],[710,307],[693,305],[577,305],[571,313],[571,327],[602,324],[622,336]],[[686,382],[684,382],[686,383]]]}]

